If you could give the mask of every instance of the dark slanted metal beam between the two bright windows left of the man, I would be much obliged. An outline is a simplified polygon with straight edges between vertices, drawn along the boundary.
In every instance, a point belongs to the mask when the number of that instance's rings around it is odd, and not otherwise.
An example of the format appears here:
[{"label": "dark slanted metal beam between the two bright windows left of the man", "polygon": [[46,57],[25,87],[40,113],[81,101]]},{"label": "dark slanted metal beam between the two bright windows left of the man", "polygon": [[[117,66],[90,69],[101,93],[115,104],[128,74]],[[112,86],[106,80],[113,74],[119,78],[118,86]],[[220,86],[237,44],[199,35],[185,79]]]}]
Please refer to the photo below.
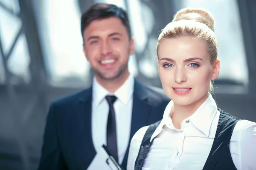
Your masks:
[{"label": "dark slanted metal beam between the two bright windows left of the man", "polygon": [[[30,73],[31,83],[30,88],[38,95],[38,102],[47,108],[45,103],[45,95],[42,90],[48,88],[47,74],[44,66],[41,44],[39,41],[37,24],[35,22],[35,14],[31,0],[19,0],[20,3],[20,18],[23,23],[23,30],[28,43],[28,51],[30,56]],[[47,113],[47,110],[45,110]],[[26,113],[25,113],[26,114]],[[30,116],[28,113],[27,116]]]}]

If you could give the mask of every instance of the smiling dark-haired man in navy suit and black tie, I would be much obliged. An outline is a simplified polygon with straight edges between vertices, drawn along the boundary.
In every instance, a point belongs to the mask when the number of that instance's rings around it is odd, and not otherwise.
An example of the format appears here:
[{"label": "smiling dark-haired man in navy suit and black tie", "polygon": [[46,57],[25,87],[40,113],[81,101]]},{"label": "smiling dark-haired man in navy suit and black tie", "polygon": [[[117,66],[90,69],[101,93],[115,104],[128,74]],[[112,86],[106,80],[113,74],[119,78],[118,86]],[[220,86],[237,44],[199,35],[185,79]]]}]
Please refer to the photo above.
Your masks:
[{"label": "smiling dark-haired man in navy suit and black tie", "polygon": [[102,144],[126,167],[132,136],[160,120],[170,100],[128,72],[134,40],[127,12],[95,4],[81,17],[81,33],[84,55],[95,73],[93,84],[52,102],[40,170],[85,170]]}]

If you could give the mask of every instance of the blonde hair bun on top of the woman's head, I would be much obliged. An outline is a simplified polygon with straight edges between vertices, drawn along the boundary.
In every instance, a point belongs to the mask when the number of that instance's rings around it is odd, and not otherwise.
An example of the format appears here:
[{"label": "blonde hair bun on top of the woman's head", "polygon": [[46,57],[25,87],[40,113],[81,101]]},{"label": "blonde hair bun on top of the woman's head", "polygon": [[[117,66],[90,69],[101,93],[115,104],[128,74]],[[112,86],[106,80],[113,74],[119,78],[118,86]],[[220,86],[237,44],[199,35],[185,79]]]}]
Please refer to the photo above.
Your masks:
[{"label": "blonde hair bun on top of the woman's head", "polygon": [[215,20],[207,10],[201,8],[184,8],[178,11],[172,21],[179,20],[194,20],[196,22],[204,23],[214,32]]}]

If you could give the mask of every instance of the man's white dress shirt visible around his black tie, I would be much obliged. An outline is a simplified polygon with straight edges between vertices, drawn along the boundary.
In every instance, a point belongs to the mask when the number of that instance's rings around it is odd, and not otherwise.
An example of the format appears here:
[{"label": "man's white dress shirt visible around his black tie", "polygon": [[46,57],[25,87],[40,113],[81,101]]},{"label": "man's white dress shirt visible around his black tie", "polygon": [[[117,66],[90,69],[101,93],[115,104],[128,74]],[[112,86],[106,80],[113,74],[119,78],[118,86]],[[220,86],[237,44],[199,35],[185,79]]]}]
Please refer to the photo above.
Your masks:
[{"label": "man's white dress shirt visible around his black tie", "polygon": [[107,144],[107,123],[109,104],[106,95],[115,95],[116,101],[113,104],[116,114],[116,137],[119,164],[122,164],[127,150],[130,131],[132,103],[134,92],[134,78],[130,75],[119,89],[111,94],[93,78],[93,101],[92,101],[92,139],[93,145],[98,152],[102,144]]}]

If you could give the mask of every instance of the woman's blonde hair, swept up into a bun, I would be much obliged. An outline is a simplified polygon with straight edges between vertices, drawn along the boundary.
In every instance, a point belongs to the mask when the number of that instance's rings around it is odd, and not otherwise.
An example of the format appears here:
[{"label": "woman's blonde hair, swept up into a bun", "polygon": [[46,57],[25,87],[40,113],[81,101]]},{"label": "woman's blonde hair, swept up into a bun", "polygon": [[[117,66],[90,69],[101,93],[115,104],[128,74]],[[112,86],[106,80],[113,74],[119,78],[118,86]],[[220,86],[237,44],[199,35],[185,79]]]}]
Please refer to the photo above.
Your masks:
[{"label": "woman's blonde hair, swept up into a bun", "polygon": [[[213,64],[218,57],[218,45],[214,33],[214,18],[212,14],[205,9],[184,8],[178,11],[171,23],[160,33],[157,40],[157,55],[159,45],[162,40],[189,36],[195,39],[204,40],[207,44],[207,50],[210,56],[210,62]],[[210,82],[209,91],[213,91],[213,83]]]}]

